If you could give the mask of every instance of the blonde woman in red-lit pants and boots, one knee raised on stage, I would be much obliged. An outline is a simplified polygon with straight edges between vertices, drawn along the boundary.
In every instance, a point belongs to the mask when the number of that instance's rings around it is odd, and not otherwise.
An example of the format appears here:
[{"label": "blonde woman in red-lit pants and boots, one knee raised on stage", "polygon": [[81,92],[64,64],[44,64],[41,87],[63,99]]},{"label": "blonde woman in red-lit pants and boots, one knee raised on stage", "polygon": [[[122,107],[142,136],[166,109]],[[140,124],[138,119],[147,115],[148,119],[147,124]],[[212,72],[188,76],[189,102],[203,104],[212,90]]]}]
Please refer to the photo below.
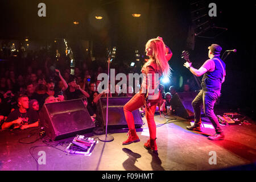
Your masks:
[{"label": "blonde woman in red-lit pants and boots, one knee raised on stage", "polygon": [[[149,59],[143,65],[141,70],[143,73],[141,89],[139,90],[139,93],[135,94],[135,96],[123,107],[127,125],[129,127],[129,132],[127,134],[129,135],[129,138],[123,142],[123,145],[140,141],[135,130],[132,111],[139,109],[139,107],[144,105],[146,107],[145,111],[148,129],[150,131],[150,139],[144,143],[144,147],[148,150],[152,150],[155,154],[158,154],[154,113],[160,98],[160,90],[158,89],[160,77],[162,75],[170,75],[170,65],[168,64],[168,60],[171,59],[172,52],[160,37],[148,40],[145,51]],[[158,80],[155,80],[155,77],[157,78],[156,74],[158,74]],[[155,90],[156,92],[154,92]]]}]

